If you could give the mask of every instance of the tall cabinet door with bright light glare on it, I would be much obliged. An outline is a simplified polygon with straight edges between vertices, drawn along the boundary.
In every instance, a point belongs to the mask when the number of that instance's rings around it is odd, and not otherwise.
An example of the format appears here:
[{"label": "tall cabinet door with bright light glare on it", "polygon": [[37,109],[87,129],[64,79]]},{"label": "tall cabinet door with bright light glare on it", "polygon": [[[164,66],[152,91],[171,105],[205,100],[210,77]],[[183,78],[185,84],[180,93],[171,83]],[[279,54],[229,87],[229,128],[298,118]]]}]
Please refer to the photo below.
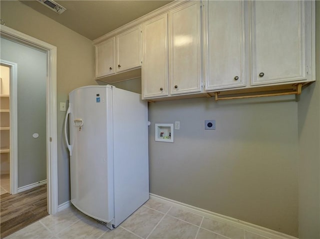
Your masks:
[{"label": "tall cabinet door with bright light glare on it", "polygon": [[188,1],[169,12],[170,93],[201,90],[200,1]]}]

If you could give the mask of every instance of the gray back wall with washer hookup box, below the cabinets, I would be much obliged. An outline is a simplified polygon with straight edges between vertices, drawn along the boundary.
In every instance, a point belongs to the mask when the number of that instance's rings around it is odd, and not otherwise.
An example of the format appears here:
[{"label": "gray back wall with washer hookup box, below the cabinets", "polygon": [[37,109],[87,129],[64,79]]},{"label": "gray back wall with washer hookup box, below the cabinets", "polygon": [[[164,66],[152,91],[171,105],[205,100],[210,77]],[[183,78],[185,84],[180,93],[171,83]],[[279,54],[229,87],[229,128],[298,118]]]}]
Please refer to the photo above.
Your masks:
[{"label": "gray back wall with washer hookup box, below the cabinets", "polygon": [[[216,130],[204,130],[214,119]],[[297,236],[297,103],[292,96],[149,103],[150,192]],[[174,142],[154,123],[180,121]]]}]

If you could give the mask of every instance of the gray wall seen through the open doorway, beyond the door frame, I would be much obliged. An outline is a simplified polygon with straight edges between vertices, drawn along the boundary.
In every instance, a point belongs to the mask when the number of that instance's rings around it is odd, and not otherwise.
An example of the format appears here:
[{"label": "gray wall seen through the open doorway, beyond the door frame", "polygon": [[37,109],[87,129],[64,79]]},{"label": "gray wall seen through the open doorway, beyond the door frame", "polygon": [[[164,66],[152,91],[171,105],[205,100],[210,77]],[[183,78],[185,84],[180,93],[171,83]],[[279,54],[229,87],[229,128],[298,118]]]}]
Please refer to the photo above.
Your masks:
[{"label": "gray wall seen through the open doorway, beyond the door frame", "polygon": [[46,53],[4,38],[0,47],[2,60],[17,63],[19,188],[46,179]]}]

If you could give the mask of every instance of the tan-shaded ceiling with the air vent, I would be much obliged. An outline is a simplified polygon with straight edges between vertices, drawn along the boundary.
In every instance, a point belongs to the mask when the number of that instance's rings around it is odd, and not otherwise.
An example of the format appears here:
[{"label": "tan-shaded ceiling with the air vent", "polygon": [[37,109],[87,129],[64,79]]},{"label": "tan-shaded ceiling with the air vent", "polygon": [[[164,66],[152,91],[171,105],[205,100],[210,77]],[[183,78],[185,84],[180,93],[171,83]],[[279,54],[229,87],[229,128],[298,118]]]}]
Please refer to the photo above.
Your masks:
[{"label": "tan-shaded ceiling with the air vent", "polygon": [[21,0],[34,10],[94,40],[172,0],[56,0],[66,8],[55,13],[35,0]]}]

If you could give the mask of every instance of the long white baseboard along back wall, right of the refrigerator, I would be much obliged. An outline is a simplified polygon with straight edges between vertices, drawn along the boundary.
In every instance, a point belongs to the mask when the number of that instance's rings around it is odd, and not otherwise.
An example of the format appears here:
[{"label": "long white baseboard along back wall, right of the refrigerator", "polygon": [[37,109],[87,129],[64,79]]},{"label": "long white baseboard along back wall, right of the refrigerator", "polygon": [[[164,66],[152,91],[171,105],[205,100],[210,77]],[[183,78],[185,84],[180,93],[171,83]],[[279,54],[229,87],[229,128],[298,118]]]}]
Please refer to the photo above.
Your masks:
[{"label": "long white baseboard along back wall, right of the refrigerator", "polygon": [[266,239],[297,239],[295,237],[292,237],[292,236],[289,236],[289,235],[286,235],[283,233],[279,233],[279,232],[273,231],[271,229],[263,228],[263,227],[260,227],[260,226],[254,225],[254,224],[250,224],[247,222],[243,222],[243,221],[240,221],[240,220],[237,220],[237,219],[234,219],[231,217],[227,217],[227,216],[224,216],[221,214],[217,214],[217,213],[213,213],[213,212],[210,212],[210,211],[207,211],[204,209],[196,208],[196,207],[184,204],[184,203],[180,203],[180,202],[177,202],[177,201],[174,201],[171,199],[167,199],[167,198],[155,195],[155,194],[150,193],[149,195],[150,195],[150,199],[154,199],[154,200],[160,201],[162,203],[170,204],[172,206],[181,208],[185,211],[203,216],[205,218],[210,218],[210,219],[214,219],[219,222],[230,224],[230,225],[235,226],[237,228],[241,228],[244,231],[265,237]]}]

